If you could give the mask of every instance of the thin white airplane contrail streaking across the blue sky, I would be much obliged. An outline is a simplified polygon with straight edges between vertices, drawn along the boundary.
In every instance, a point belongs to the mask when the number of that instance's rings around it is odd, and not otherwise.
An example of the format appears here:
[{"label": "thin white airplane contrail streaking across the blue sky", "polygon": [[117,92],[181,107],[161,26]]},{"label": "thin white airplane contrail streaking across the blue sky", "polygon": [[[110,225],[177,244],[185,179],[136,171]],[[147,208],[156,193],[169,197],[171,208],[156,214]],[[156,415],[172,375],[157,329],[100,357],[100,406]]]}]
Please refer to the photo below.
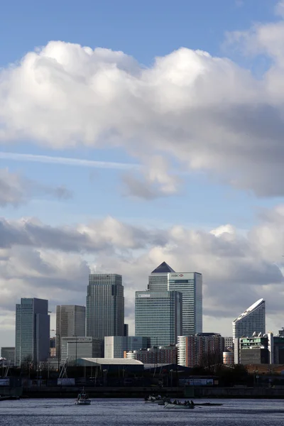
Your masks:
[{"label": "thin white airplane contrail streaking across the blue sky", "polygon": [[141,168],[141,165],[135,163],[115,163],[111,161],[84,160],[82,158],[52,157],[50,155],[7,153],[5,151],[0,151],[0,160],[29,161],[33,163],[49,163],[73,166],[75,165],[78,167],[107,168],[114,170],[131,170]]}]

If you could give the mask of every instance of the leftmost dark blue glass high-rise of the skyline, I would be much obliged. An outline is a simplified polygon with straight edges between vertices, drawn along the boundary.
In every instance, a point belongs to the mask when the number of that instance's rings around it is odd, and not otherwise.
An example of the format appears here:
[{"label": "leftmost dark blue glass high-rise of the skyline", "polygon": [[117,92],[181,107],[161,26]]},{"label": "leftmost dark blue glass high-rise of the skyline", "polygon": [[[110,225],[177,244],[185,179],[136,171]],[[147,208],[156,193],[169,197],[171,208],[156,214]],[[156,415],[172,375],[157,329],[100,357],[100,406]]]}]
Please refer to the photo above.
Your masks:
[{"label": "leftmost dark blue glass high-rise of the skyline", "polygon": [[36,365],[48,359],[49,337],[48,300],[21,299],[16,305],[16,366],[24,362]]}]

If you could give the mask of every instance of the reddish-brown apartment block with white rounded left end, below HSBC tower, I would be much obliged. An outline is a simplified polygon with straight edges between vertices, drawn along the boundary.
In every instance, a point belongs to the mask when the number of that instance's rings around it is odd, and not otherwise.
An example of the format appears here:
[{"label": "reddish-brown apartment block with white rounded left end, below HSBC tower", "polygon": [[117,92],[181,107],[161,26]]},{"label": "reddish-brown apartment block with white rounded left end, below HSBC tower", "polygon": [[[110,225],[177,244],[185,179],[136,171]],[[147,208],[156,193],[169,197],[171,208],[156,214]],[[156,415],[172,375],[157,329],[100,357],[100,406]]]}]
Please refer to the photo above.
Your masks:
[{"label": "reddish-brown apartment block with white rounded left end, below HSBC tower", "polygon": [[222,364],[224,337],[218,333],[199,333],[178,337],[178,364],[185,367]]}]

